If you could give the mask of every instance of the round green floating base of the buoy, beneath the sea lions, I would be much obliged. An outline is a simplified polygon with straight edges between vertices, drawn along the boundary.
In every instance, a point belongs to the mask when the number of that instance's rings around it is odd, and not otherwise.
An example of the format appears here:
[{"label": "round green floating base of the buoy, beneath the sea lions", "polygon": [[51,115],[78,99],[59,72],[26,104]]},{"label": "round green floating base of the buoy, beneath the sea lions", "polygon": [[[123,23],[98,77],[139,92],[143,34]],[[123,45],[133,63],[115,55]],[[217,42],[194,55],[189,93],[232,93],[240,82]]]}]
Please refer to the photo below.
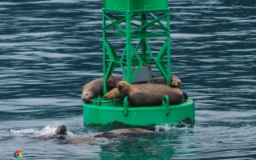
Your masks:
[{"label": "round green floating base of the buoy, beneath the sea lions", "polygon": [[123,104],[114,102],[113,99],[98,103],[98,98],[94,98],[92,102],[98,105],[85,103],[83,106],[83,122],[86,126],[112,124],[131,126],[163,125],[180,122],[186,118],[190,118],[191,122],[194,123],[194,101],[191,99],[184,99],[178,105],[167,105],[167,100],[162,106],[140,107],[129,106],[129,102],[126,100]]}]

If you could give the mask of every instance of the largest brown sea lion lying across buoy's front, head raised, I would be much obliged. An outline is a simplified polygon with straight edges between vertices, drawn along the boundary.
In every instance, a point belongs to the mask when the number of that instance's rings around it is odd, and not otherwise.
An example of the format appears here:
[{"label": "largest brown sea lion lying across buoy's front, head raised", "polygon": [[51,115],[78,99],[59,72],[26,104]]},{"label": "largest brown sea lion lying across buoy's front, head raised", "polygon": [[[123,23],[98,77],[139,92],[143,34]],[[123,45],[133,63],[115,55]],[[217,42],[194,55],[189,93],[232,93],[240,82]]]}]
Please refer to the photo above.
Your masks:
[{"label": "largest brown sea lion lying across buoy's front, head raised", "polygon": [[160,84],[132,85],[129,82],[116,82],[120,94],[128,96],[132,106],[159,106],[162,103],[162,96],[167,95],[170,105],[182,101],[183,93],[178,87],[170,87]]}]

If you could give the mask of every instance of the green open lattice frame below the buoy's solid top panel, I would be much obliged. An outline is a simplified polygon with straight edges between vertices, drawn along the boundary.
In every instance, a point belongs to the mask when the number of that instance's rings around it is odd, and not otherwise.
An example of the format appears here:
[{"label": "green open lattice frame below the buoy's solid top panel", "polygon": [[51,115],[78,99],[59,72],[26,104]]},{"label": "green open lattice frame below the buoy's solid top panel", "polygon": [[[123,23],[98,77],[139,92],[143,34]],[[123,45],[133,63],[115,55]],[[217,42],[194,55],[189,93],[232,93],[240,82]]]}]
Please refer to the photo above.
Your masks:
[{"label": "green open lattice frame below the buoy's solid top panel", "polygon": [[[154,12],[161,12],[162,15],[156,17]],[[122,16],[117,17],[111,13],[121,14]],[[138,18],[138,15],[141,15],[141,17]],[[150,16],[150,20],[146,19],[146,15]],[[166,18],[166,25],[162,22],[164,18]],[[106,21],[110,22],[107,26]],[[140,22],[141,24],[134,23],[134,21]],[[125,29],[122,28],[121,23],[126,24]],[[147,31],[146,29],[148,27],[160,30],[160,32],[155,33]],[[102,31],[103,94],[106,94],[108,91],[106,90],[106,80],[110,78],[110,75],[117,65],[121,66],[126,81],[130,83],[134,82],[134,78],[136,78],[142,66],[156,65],[162,76],[166,78],[168,86],[170,86],[170,10],[124,12],[102,9]],[[126,38],[126,46],[122,52],[121,58],[118,58],[118,54],[116,54],[110,42],[107,41],[107,37],[110,36]],[[150,50],[150,44],[147,38],[166,38],[166,41],[162,44],[156,57],[153,56]],[[139,39],[135,47],[132,45],[133,39]],[[142,48],[141,56],[138,53],[140,46]],[[146,51],[149,55],[147,55]],[[167,60],[164,59],[165,55],[167,56]],[[131,71],[132,66],[137,66],[134,74],[132,74]]]}]

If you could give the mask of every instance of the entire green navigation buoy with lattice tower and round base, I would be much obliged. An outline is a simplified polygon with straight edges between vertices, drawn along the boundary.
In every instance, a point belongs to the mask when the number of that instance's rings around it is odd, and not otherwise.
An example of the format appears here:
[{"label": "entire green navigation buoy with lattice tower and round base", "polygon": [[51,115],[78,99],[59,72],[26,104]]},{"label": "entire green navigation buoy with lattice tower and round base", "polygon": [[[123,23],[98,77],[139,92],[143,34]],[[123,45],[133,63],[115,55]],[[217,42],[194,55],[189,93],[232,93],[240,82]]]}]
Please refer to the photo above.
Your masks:
[{"label": "entire green navigation buoy with lattice tower and round base", "polygon": [[[108,38],[123,38],[126,46],[118,54]],[[162,46],[154,55],[150,38],[161,38]],[[116,66],[122,68],[126,82],[152,82],[151,66],[155,65],[170,86],[170,10],[168,0],[104,0],[102,8],[103,94],[106,80]],[[189,119],[194,123],[194,101],[183,99],[169,105],[163,96],[162,106],[130,106],[129,99],[94,98],[83,105],[84,125],[125,124],[152,126]]]}]

